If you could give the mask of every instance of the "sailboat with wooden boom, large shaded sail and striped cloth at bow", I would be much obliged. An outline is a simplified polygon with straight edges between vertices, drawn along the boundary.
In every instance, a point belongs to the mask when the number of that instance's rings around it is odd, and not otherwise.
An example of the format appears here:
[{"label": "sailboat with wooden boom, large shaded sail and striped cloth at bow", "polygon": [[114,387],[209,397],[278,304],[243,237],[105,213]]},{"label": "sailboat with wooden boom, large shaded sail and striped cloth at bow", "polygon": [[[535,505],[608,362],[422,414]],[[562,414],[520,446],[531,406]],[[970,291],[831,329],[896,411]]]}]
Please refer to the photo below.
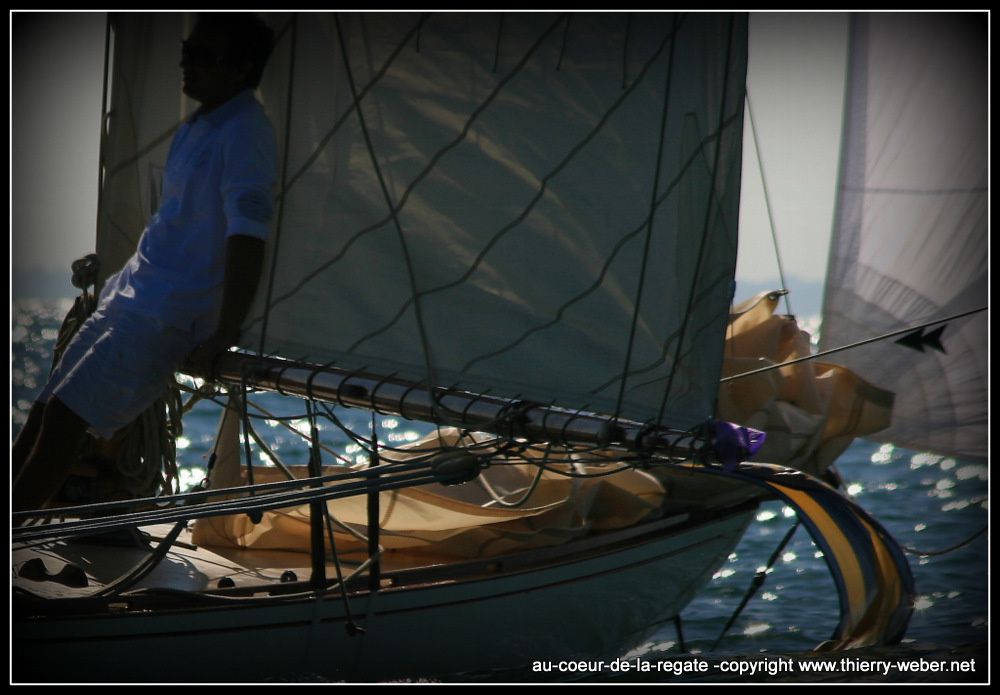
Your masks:
[{"label": "sailboat with wooden boom, large shaded sail and striped cloth at bow", "polygon": [[[267,20],[279,214],[241,349],[202,375],[228,396],[206,486],[15,516],[48,522],[14,529],[15,680],[612,660],[677,620],[766,497],[799,512],[834,574],[827,646],[902,637],[902,553],[819,480],[894,422],[891,394],[878,374],[776,368],[809,353],[781,292],[733,305],[746,16]],[[98,285],[155,210],[190,114],[190,22],[110,20]],[[970,219],[966,248],[985,239]],[[255,389],[301,399],[307,466],[254,465]],[[366,456],[347,465],[318,426],[337,408],[431,427],[405,446],[349,432]],[[143,532],[109,543],[123,529]],[[199,655],[183,673],[156,656],[178,643]]]}]

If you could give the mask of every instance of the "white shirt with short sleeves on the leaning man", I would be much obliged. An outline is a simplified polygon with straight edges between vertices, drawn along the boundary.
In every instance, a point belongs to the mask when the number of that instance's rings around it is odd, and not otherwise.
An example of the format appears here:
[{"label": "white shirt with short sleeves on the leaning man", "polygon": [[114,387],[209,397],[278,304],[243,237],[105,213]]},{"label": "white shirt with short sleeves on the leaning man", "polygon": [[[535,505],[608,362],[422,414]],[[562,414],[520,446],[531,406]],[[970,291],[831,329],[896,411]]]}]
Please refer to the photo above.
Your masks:
[{"label": "white shirt with short sleeves on the leaning man", "polygon": [[135,254],[104,286],[105,313],[151,315],[196,341],[214,333],[226,240],[267,237],[276,177],[274,129],[252,91],[195,113],[170,145],[159,209]]}]

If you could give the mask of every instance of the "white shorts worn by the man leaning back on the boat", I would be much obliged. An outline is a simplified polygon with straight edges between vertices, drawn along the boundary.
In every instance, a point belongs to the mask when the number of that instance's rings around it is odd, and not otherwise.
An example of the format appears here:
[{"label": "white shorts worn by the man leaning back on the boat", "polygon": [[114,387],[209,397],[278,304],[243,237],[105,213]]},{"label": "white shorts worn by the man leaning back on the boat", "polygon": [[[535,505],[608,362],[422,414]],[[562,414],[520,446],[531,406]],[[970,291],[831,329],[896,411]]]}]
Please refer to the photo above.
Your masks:
[{"label": "white shorts worn by the man leaning back on the boat", "polygon": [[110,439],[166,393],[195,345],[190,333],[149,316],[98,309],[73,336],[36,400],[58,396],[94,434]]}]

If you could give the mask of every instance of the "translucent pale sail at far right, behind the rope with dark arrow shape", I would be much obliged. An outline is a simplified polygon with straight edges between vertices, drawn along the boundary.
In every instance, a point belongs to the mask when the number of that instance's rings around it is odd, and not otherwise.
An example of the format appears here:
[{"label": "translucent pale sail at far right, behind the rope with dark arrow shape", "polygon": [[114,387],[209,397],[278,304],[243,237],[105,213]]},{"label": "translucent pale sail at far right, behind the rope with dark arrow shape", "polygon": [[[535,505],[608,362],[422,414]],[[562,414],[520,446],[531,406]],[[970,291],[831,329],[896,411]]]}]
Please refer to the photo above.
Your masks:
[{"label": "translucent pale sail at far right, behind the rope with dark arrow shape", "polygon": [[858,14],[821,349],[894,391],[910,448],[987,450],[987,45],[982,14]]}]

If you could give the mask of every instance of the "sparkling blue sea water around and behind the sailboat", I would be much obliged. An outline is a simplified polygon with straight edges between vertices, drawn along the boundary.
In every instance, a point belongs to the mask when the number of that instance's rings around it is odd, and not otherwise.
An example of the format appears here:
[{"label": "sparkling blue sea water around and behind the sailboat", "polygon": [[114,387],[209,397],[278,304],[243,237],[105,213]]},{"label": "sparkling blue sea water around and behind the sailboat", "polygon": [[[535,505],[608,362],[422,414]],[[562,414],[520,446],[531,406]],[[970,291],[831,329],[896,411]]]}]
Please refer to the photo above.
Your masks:
[{"label": "sparkling blue sea water around and behind the sailboat", "polygon": [[[59,325],[70,304],[70,300],[18,300],[12,305],[12,437],[23,425],[34,396],[45,382]],[[258,425],[265,440],[285,463],[305,464],[307,453],[295,432],[307,429],[301,402],[290,406],[288,399],[269,395],[261,396],[259,401],[263,407],[273,409],[269,412],[275,416],[264,418],[263,424]],[[185,488],[205,476],[219,412],[218,405],[205,401],[195,406],[184,420],[178,448]],[[373,424],[371,416],[362,411],[336,412],[345,424],[360,432],[368,431]],[[416,423],[387,416],[377,416],[374,425],[380,441],[388,445],[413,441],[426,431]],[[364,456],[357,445],[333,428],[322,434],[345,460],[353,462]],[[253,451],[255,456],[266,458],[256,446]],[[895,648],[893,658],[898,663],[898,650],[903,650],[904,655],[919,655],[921,659],[928,653],[955,649],[973,654],[984,652],[989,629],[988,533],[981,533],[989,516],[986,465],[864,440],[855,441],[836,465],[848,494],[878,519],[900,545],[912,551],[907,559],[918,596],[906,638]],[[662,665],[671,664],[673,669],[673,660],[678,657],[700,658],[705,663],[711,658],[715,660],[712,663],[719,663],[727,655],[740,655],[744,660],[747,655],[760,655],[761,659],[772,655],[770,660],[748,662],[751,665],[746,667],[770,678],[767,669],[780,666],[782,662],[774,660],[783,658],[779,655],[798,655],[801,661],[802,655],[829,639],[840,610],[837,590],[822,553],[803,527],[780,553],[761,589],[732,627],[722,634],[754,575],[764,568],[794,522],[794,512],[784,504],[763,504],[743,540],[708,586],[683,611],[680,631],[674,624],[665,625],[648,642],[622,655],[626,662],[660,664],[661,668],[643,674],[633,670],[632,677],[610,671],[603,676],[672,682],[680,676],[664,670]],[[681,650],[682,643],[685,651]],[[853,666],[863,668],[858,664]],[[585,680],[604,680],[603,676],[590,674],[568,673],[567,677],[574,675]],[[730,675],[733,682],[753,680],[753,674]],[[852,679],[850,673],[841,675],[840,680]],[[912,680],[922,680],[919,675],[915,674]],[[984,672],[980,675],[985,677]]]}]

